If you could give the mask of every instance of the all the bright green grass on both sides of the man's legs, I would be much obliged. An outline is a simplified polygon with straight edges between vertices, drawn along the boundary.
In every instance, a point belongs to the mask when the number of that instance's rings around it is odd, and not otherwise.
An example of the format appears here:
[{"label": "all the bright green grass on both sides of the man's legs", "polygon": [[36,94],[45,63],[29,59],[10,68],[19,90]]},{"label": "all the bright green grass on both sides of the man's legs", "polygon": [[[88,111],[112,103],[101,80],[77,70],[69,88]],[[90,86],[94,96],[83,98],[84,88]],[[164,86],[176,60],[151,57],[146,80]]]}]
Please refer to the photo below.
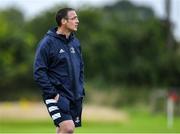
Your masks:
[{"label": "all the bright green grass on both sides of the man's legs", "polygon": [[[76,133],[180,133],[180,117],[174,119],[174,126],[167,128],[166,116],[145,112],[130,112],[127,122],[87,122],[76,129]],[[0,133],[55,133],[51,120],[23,121],[0,120]]]}]

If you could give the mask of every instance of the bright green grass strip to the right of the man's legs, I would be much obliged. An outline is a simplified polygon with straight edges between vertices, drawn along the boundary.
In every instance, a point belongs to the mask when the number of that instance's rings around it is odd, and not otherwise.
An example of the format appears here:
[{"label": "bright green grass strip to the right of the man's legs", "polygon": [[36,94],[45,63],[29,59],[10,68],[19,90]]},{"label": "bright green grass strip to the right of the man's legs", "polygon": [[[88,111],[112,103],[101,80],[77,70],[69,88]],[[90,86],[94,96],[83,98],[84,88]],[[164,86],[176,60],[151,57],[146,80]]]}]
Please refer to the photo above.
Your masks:
[{"label": "bright green grass strip to the right of the man's legs", "polygon": [[174,119],[173,128],[167,128],[165,115],[148,113],[130,114],[129,120],[120,122],[85,122],[76,132],[90,133],[177,133],[180,132],[180,117]]}]

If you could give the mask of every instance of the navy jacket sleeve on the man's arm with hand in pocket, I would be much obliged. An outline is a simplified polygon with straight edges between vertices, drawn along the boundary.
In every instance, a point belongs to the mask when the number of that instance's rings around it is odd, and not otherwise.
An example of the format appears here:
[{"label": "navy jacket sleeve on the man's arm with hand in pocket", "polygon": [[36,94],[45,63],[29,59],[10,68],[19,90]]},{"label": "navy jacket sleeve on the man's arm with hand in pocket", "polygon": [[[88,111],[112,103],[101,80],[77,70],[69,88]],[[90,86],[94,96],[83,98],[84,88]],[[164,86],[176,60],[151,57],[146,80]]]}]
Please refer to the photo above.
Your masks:
[{"label": "navy jacket sleeve on the man's arm with hand in pocket", "polygon": [[34,79],[43,91],[44,99],[51,99],[57,95],[55,87],[48,78],[48,64],[50,51],[47,42],[41,42],[36,50],[34,60]]}]

